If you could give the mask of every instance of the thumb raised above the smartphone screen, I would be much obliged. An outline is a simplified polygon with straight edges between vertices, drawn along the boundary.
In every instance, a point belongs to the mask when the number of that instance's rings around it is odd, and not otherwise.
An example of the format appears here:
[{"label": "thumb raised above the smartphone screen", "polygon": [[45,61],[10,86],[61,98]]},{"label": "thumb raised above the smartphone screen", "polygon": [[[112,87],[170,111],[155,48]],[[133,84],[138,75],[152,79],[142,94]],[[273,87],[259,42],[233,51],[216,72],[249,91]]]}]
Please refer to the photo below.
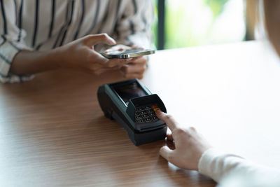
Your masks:
[{"label": "thumb raised above the smartphone screen", "polygon": [[108,34],[90,34],[85,36],[85,45],[92,47],[98,43],[106,43],[108,45],[116,45],[116,41]]}]

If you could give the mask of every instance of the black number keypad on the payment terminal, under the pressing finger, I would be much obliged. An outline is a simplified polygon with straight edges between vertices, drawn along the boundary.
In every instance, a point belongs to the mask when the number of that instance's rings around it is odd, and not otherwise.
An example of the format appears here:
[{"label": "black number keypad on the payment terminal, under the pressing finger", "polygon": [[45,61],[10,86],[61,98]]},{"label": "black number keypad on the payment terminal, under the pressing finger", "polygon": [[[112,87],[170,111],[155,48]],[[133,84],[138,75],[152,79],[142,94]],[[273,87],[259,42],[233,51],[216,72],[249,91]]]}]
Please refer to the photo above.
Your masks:
[{"label": "black number keypad on the payment terminal, under the pressing finger", "polygon": [[159,120],[155,115],[155,111],[157,111],[158,105],[152,104],[148,106],[139,106],[136,108],[135,112],[135,120],[137,123],[152,123],[154,121]]}]

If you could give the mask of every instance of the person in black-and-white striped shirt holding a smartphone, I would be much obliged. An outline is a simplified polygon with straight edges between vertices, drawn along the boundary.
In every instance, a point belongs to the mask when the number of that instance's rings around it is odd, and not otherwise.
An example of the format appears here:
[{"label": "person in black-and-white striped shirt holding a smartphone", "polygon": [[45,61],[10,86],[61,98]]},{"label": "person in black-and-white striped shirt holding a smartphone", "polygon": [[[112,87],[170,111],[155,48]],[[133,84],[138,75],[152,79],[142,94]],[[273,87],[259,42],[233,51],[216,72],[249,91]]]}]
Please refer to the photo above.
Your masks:
[{"label": "person in black-and-white striped shirt holding a smartphone", "polygon": [[59,68],[142,78],[145,57],[108,60],[97,44],[149,48],[153,14],[149,0],[0,0],[0,81]]}]

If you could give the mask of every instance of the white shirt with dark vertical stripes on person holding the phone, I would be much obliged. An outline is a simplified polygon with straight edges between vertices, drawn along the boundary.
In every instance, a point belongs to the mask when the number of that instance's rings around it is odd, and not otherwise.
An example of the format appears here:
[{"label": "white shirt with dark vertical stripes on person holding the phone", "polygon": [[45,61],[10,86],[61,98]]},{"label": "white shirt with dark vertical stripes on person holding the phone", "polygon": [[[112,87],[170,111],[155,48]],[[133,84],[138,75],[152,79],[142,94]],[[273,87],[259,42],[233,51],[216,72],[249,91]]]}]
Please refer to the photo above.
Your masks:
[{"label": "white shirt with dark vertical stripes on person holding the phone", "polygon": [[151,46],[152,0],[0,0],[0,81],[22,49],[51,50],[87,34],[107,33],[117,43]]}]

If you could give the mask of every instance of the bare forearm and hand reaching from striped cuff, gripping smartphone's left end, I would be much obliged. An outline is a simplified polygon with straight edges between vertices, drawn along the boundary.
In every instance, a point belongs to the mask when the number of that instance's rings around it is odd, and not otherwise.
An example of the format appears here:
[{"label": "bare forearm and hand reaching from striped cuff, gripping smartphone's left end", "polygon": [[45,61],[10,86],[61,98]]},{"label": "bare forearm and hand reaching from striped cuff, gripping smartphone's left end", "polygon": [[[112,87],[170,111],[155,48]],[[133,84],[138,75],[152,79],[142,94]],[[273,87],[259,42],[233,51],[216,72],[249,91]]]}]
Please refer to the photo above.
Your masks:
[{"label": "bare forearm and hand reaching from striped cuff, gripping smartphone's left end", "polygon": [[107,59],[97,53],[94,46],[99,43],[116,45],[116,41],[107,34],[90,34],[49,51],[22,50],[13,59],[13,74],[36,74],[52,69],[73,69],[90,74],[118,70],[131,59]]}]

